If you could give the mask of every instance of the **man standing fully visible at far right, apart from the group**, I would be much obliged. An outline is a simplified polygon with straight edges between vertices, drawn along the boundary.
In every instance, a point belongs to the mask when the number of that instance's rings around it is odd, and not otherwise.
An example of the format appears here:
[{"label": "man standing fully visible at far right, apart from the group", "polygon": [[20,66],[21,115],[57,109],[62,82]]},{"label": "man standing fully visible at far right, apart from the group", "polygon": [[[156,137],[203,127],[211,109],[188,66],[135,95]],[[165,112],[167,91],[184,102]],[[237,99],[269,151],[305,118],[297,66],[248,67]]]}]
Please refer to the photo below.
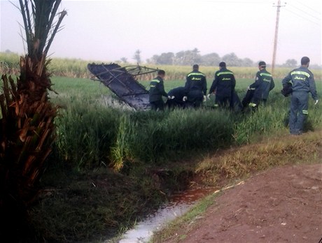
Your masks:
[{"label": "man standing fully visible at far right, apart from the group", "polygon": [[283,87],[292,84],[292,97],[290,99],[290,134],[299,135],[302,133],[304,120],[308,114],[309,92],[318,103],[318,94],[314,75],[309,71],[309,57],[302,57],[300,68],[290,71],[282,81]]}]

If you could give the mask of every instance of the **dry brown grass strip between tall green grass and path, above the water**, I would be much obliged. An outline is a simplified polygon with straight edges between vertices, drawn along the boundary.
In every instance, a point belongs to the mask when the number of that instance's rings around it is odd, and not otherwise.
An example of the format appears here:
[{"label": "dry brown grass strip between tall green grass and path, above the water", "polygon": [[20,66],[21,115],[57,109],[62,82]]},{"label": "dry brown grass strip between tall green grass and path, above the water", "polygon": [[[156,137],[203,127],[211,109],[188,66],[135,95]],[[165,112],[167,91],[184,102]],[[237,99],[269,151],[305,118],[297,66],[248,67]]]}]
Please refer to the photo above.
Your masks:
[{"label": "dry brown grass strip between tall green grass and path, above the water", "polygon": [[[215,175],[211,183],[223,177],[232,179],[250,175],[275,165],[294,161],[309,161],[321,156],[322,131],[307,133],[302,137],[286,135],[285,138],[267,138],[260,143],[232,149],[223,155],[204,159],[197,165],[196,172]],[[206,177],[205,177],[206,178]],[[209,179],[210,177],[208,177]]]}]

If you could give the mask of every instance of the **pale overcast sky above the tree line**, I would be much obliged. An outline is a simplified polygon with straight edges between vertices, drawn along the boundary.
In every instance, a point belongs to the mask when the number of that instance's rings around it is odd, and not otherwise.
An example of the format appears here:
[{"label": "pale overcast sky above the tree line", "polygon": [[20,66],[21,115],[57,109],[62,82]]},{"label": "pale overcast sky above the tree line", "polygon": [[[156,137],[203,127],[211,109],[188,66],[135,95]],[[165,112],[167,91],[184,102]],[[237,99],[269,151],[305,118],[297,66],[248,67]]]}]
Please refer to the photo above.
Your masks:
[{"label": "pale overcast sky above the tree line", "polygon": [[[276,63],[308,56],[321,65],[321,0],[282,1]],[[13,1],[18,4],[18,1]],[[133,61],[162,52],[235,52],[239,58],[272,63],[276,0],[62,0],[68,15],[52,57]],[[20,12],[0,0],[0,51],[24,52]]]}]

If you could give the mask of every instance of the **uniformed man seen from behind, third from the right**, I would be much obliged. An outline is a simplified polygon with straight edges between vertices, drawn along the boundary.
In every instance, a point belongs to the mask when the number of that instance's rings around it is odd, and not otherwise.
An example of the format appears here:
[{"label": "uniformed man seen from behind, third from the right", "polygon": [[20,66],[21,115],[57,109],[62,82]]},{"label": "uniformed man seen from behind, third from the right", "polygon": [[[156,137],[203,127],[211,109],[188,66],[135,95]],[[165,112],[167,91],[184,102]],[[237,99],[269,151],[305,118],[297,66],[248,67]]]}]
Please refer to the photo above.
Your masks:
[{"label": "uniformed man seen from behind, third from the right", "polygon": [[234,73],[228,70],[225,62],[222,61],[219,64],[219,71],[215,73],[214,82],[209,90],[209,94],[216,94],[215,106],[232,109],[234,107],[232,98],[234,97],[235,86]]}]

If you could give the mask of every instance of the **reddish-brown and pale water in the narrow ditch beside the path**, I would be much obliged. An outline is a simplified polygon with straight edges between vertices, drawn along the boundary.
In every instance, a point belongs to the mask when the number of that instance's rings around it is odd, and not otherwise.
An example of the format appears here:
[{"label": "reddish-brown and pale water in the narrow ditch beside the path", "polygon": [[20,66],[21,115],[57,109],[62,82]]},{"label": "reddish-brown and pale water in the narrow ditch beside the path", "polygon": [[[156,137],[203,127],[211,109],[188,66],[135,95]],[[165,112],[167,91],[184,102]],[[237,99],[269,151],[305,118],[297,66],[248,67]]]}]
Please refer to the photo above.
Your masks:
[{"label": "reddish-brown and pale water in the narrow ditch beside the path", "polygon": [[151,239],[153,232],[160,230],[169,221],[183,215],[199,199],[214,192],[216,189],[191,189],[174,195],[170,202],[160,207],[157,212],[137,223],[134,229],[128,230],[118,243],[145,243]]}]

